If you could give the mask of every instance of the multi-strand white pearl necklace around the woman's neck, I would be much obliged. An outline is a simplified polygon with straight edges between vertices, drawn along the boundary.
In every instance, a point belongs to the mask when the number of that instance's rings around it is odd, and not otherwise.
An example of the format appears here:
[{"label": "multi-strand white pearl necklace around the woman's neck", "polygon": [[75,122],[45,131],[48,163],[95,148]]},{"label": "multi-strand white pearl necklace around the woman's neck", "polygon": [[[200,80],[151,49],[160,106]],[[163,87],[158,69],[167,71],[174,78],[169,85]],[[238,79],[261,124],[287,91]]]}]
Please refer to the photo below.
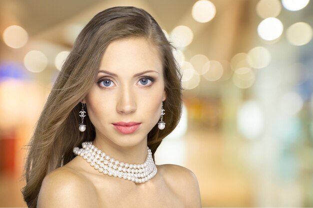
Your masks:
[{"label": "multi-strand white pearl necklace around the woman's neck", "polygon": [[142,164],[128,164],[119,162],[106,155],[92,145],[92,142],[83,142],[82,148],[75,147],[73,153],[85,159],[95,170],[104,175],[122,178],[134,183],[144,183],[152,179],[156,172],[156,166],[152,159],[151,150],[147,147],[147,156]]}]

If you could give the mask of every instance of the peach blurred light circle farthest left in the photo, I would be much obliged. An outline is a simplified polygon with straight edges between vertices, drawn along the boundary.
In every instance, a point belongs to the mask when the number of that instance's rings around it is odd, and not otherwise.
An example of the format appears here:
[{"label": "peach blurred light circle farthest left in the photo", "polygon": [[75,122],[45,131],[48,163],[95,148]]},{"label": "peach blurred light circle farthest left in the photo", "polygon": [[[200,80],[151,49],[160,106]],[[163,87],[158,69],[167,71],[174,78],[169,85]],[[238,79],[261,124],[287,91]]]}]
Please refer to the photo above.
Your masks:
[{"label": "peach blurred light circle farthest left in the photo", "polygon": [[2,38],[7,46],[11,48],[21,48],[26,44],[28,34],[21,26],[11,25],[4,29]]}]

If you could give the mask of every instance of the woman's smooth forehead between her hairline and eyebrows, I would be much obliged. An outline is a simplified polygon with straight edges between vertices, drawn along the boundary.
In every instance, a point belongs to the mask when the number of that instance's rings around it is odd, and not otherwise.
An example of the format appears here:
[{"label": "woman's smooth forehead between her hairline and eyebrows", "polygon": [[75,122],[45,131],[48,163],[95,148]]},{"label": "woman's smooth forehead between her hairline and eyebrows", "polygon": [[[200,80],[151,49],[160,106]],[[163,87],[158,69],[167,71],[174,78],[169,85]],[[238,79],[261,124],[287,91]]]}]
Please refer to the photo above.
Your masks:
[{"label": "woman's smooth forehead between her hairline and eyebrows", "polygon": [[162,60],[157,48],[145,38],[114,40],[104,51],[99,70],[137,73],[142,70],[162,71]]}]

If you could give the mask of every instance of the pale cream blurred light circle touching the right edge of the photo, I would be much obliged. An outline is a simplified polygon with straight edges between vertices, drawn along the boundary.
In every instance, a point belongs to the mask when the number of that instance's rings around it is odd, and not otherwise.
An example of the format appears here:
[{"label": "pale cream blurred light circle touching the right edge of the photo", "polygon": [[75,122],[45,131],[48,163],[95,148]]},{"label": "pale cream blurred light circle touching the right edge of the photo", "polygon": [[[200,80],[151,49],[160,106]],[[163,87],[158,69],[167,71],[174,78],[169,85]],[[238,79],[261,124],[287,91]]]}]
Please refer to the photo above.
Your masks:
[{"label": "pale cream blurred light circle touching the right edge of the photo", "polygon": [[296,22],[286,30],[287,40],[293,45],[305,45],[313,36],[312,27],[305,22]]}]

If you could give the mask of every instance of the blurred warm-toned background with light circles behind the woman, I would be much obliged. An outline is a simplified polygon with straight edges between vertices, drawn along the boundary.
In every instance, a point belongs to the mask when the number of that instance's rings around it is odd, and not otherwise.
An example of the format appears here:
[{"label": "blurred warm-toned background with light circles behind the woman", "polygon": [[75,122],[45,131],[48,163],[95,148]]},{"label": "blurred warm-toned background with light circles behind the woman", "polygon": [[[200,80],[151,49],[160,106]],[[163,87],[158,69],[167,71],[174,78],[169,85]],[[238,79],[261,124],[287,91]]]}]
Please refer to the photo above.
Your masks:
[{"label": "blurred warm-toned background with light circles behind the woman", "polygon": [[190,169],[202,207],[313,207],[309,0],[0,0],[0,207],[26,207],[24,145],[53,81],[83,26],[119,5],[156,19],[183,73],[156,164]]}]

